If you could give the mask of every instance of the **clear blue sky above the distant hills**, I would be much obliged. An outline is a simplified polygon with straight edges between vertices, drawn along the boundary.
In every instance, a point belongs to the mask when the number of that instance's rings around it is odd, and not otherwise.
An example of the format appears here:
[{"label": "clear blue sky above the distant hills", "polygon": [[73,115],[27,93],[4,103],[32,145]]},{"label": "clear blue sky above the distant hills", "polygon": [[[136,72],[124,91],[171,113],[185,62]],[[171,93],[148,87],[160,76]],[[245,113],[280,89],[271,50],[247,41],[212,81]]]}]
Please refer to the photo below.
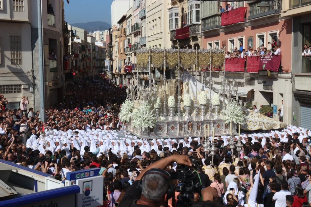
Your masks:
[{"label": "clear blue sky above the distant hills", "polygon": [[113,0],[69,0],[65,4],[65,20],[68,24],[104,21],[111,24]]}]

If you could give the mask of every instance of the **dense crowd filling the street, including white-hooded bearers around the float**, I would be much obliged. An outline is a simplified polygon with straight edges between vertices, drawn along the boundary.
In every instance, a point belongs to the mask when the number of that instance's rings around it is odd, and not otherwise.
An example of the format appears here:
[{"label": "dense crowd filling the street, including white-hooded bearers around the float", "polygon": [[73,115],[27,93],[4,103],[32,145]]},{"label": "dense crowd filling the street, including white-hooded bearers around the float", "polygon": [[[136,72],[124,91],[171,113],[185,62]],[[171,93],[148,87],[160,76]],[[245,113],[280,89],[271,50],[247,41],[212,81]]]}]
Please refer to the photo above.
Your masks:
[{"label": "dense crowd filling the street, including white-hooded bearers around the float", "polygon": [[118,119],[125,88],[101,78],[77,80],[67,88],[65,100],[46,110],[46,123],[39,111],[27,110],[27,97],[20,109],[8,110],[9,100],[0,95],[1,159],[58,180],[70,171],[99,167],[103,206],[180,206],[185,192],[171,186],[182,189],[183,183],[169,173],[188,166],[199,178],[191,188],[193,206],[310,207],[308,129],[289,125],[243,133],[234,137],[242,151],[233,154],[230,137],[209,137],[216,148],[212,162],[204,137],[149,141],[128,133]]}]

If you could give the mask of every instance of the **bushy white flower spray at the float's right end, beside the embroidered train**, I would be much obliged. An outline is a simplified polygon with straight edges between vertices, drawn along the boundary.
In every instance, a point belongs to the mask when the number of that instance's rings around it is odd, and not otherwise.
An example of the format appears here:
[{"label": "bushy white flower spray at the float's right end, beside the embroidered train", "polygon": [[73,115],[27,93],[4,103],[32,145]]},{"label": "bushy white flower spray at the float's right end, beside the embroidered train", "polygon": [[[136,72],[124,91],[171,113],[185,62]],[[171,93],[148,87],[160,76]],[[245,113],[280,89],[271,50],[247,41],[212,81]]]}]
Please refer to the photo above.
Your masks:
[{"label": "bushy white flower spray at the float's right end, beside the embroidered train", "polygon": [[244,124],[245,122],[244,111],[242,107],[235,102],[228,103],[226,108],[222,110],[220,114],[225,123],[232,121],[235,124]]}]

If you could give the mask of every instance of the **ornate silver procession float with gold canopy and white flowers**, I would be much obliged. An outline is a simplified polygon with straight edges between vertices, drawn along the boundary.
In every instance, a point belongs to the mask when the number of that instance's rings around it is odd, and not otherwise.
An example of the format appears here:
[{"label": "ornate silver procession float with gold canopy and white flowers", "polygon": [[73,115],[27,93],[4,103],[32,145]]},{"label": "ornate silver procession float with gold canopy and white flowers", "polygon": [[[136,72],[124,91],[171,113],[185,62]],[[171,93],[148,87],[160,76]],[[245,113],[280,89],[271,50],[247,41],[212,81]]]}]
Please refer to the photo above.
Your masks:
[{"label": "ornate silver procession float with gold canopy and white flowers", "polygon": [[[127,131],[141,139],[233,137],[240,128],[286,127],[246,110],[236,96],[234,80],[226,79],[225,71],[220,93],[216,93],[211,71],[224,67],[224,50],[142,48],[137,51],[136,84],[129,84],[119,117],[127,122]],[[154,69],[163,71],[160,82],[151,79]],[[178,70],[178,77],[166,79],[168,69]],[[148,85],[144,81],[140,84],[139,70],[149,70]],[[198,72],[204,74],[202,82],[198,81]]]}]

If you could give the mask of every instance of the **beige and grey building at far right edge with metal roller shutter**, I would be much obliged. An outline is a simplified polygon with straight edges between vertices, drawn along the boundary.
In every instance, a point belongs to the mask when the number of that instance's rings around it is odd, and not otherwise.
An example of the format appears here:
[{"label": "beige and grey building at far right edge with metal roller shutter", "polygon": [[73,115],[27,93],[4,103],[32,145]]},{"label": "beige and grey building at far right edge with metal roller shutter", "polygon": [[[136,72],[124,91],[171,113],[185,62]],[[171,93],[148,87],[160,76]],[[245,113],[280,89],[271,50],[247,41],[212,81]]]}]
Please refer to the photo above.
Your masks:
[{"label": "beige and grey building at far right edge with metal roller shutter", "polygon": [[311,59],[303,56],[304,45],[311,45],[311,1],[283,0],[281,16],[292,18],[292,46],[290,57],[292,66],[292,114],[293,125],[311,128]]}]

